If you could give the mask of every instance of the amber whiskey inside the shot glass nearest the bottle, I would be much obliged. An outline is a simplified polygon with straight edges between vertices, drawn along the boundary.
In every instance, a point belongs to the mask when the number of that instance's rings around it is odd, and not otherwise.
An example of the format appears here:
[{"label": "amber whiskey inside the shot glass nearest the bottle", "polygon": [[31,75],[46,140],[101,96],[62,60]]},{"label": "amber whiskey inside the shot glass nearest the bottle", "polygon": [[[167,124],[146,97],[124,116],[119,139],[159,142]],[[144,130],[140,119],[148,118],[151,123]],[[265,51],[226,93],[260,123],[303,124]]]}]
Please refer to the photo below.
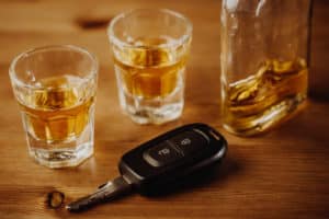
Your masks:
[{"label": "amber whiskey inside the shot glass nearest the bottle", "polygon": [[125,92],[143,99],[166,97],[179,84],[180,73],[185,65],[185,57],[173,60],[173,53],[159,45],[168,43],[168,38],[138,38],[134,42],[137,48],[123,53],[115,65],[123,79]]}]

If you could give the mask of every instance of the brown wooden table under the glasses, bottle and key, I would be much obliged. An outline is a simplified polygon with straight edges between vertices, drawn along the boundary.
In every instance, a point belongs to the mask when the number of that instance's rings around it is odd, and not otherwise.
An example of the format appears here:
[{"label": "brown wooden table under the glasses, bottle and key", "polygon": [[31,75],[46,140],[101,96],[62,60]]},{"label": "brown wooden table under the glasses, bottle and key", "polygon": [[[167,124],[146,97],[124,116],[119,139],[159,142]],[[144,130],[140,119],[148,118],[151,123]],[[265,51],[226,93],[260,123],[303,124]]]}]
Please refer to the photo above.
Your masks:
[{"label": "brown wooden table under the glasses, bottle and key", "polygon": [[[162,126],[138,126],[121,113],[105,34],[115,14],[145,7],[180,11],[194,24],[185,110],[179,120]],[[308,107],[270,134],[247,139],[220,126],[219,8],[215,0],[2,0],[0,218],[329,218],[329,4],[315,1]],[[29,158],[8,77],[16,54],[49,44],[86,47],[101,64],[95,153],[75,169],[49,170]],[[214,181],[161,198],[134,194],[81,215],[47,208],[47,193],[61,191],[66,201],[91,193],[117,175],[125,151],[193,122],[216,127],[229,142]]]}]

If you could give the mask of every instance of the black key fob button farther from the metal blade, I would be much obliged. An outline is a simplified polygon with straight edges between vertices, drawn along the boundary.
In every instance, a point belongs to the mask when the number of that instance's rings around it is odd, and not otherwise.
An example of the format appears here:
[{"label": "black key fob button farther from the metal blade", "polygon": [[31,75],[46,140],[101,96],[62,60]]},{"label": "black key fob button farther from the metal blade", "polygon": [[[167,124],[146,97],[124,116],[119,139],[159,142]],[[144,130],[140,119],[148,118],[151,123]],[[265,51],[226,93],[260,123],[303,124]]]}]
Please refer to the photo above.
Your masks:
[{"label": "black key fob button farther from the metal blade", "polygon": [[203,147],[208,145],[208,139],[206,139],[202,132],[195,130],[184,131],[171,139],[169,139],[179,150],[183,152],[184,155],[192,154],[202,150]]}]

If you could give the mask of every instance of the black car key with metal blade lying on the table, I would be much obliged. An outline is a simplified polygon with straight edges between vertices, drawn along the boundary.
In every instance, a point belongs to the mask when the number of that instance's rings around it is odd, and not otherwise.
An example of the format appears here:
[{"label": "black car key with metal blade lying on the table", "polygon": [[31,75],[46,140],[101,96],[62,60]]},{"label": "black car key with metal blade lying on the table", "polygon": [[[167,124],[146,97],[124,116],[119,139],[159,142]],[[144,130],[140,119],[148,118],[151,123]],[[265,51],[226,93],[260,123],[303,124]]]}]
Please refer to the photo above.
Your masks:
[{"label": "black car key with metal blade lying on the table", "polygon": [[226,151],[225,138],[214,128],[205,124],[179,127],[125,153],[118,164],[121,176],[66,207],[69,211],[84,210],[134,189],[141,195],[155,194],[179,178],[218,163]]}]

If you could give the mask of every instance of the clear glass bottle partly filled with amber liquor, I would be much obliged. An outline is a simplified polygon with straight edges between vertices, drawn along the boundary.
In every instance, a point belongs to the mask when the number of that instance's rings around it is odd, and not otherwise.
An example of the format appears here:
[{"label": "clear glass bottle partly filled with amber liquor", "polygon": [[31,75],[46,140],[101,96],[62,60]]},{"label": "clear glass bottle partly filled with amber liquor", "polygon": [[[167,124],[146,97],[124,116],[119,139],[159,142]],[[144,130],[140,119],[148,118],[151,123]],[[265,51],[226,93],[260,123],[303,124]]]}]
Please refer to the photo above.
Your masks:
[{"label": "clear glass bottle partly filled with amber liquor", "polygon": [[305,105],[311,0],[223,0],[224,127],[252,136]]}]

